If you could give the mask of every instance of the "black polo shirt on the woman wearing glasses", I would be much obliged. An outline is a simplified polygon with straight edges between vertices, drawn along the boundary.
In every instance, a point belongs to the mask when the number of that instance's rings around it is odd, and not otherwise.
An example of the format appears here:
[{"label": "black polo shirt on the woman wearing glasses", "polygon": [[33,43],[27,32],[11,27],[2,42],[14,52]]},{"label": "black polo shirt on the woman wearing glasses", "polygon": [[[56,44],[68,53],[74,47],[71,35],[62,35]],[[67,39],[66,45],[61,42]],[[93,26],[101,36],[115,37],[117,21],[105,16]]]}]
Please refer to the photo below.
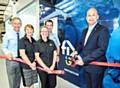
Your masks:
[{"label": "black polo shirt on the woman wearing glasses", "polygon": [[52,65],[54,50],[56,49],[55,43],[50,39],[47,42],[40,39],[35,45],[35,52],[39,53],[40,58],[48,67]]}]

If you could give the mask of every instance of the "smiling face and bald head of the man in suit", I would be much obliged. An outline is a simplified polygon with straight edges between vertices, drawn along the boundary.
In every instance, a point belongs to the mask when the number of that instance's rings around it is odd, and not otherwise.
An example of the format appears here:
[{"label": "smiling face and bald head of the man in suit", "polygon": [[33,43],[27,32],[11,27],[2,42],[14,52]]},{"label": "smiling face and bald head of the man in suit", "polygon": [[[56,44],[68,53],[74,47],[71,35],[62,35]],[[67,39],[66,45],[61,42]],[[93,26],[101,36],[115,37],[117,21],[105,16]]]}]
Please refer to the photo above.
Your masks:
[{"label": "smiling face and bald head of the man in suit", "polygon": [[98,12],[95,8],[91,8],[87,12],[86,20],[90,26],[94,25],[99,19]]}]

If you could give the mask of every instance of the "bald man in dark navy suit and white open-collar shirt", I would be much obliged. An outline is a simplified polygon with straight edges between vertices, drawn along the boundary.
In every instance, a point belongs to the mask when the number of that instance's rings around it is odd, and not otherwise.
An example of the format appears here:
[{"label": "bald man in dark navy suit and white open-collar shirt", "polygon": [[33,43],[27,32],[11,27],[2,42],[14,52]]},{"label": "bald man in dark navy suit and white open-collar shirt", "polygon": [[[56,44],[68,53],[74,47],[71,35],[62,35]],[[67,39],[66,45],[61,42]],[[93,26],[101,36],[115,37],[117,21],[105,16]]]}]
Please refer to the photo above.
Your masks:
[{"label": "bald man in dark navy suit and white open-collar shirt", "polygon": [[[92,61],[106,61],[105,52],[109,41],[109,31],[98,23],[99,15],[95,8],[87,11],[88,28],[83,30],[77,52],[76,64],[82,66],[87,88],[101,88],[104,67],[90,65]],[[76,52],[76,53],[77,53]]]}]

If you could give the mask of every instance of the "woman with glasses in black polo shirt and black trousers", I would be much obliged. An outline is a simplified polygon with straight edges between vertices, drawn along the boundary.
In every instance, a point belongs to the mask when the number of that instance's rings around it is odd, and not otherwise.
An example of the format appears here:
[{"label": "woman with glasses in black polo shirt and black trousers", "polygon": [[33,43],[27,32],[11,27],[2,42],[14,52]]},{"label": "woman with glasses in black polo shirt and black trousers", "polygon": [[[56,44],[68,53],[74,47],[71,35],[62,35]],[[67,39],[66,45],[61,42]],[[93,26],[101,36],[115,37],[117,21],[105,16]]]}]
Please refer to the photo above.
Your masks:
[{"label": "woman with glasses in black polo shirt and black trousers", "polygon": [[[35,45],[35,57],[38,64],[47,70],[54,70],[56,63],[56,46],[49,38],[46,27],[40,29],[40,39]],[[56,75],[38,71],[42,88],[55,88]]]}]

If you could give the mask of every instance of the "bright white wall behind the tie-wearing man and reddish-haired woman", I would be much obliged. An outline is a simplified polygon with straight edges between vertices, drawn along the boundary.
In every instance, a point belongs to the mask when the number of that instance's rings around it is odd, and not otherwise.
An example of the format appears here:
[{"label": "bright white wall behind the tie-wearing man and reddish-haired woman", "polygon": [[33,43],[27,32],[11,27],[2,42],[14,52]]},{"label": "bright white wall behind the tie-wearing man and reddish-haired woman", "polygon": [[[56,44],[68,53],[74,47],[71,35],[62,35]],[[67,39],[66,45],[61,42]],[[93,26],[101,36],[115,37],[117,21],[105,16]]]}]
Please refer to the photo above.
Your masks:
[{"label": "bright white wall behind the tie-wearing man and reddish-haired woman", "polygon": [[[37,40],[39,36],[39,0],[36,0],[34,3],[20,11],[17,16],[22,20],[22,34],[24,35],[24,26],[26,24],[32,24],[35,29],[33,37]],[[9,19],[5,22],[5,29],[6,32],[11,31],[12,29]]]}]

